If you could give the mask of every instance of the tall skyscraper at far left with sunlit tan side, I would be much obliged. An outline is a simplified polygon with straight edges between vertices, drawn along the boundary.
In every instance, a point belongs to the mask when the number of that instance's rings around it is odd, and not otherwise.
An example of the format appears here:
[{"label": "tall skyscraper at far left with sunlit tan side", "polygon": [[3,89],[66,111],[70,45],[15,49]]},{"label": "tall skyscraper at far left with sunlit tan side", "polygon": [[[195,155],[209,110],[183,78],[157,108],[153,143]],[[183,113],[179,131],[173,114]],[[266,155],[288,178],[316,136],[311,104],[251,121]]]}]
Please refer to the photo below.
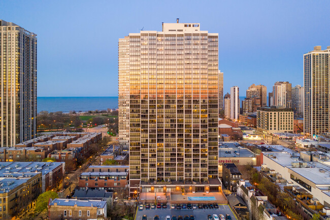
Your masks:
[{"label": "tall skyscraper at far left with sunlit tan side", "polygon": [[37,35],[0,20],[1,146],[36,137]]}]

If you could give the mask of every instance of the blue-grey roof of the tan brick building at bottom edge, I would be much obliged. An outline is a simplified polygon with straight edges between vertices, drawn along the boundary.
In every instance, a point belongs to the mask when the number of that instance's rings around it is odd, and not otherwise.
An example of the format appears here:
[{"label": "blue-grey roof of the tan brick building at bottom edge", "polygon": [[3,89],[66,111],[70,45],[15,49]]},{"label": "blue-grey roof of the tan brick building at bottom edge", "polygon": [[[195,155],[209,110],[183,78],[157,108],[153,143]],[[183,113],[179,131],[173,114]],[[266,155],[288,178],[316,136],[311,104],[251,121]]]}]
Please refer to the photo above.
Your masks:
[{"label": "blue-grey roof of the tan brick building at bottom edge", "polygon": [[107,205],[106,201],[101,200],[77,200],[77,199],[54,199],[49,200],[49,205],[57,204],[57,206],[81,206],[81,207],[97,207],[104,208]]}]

